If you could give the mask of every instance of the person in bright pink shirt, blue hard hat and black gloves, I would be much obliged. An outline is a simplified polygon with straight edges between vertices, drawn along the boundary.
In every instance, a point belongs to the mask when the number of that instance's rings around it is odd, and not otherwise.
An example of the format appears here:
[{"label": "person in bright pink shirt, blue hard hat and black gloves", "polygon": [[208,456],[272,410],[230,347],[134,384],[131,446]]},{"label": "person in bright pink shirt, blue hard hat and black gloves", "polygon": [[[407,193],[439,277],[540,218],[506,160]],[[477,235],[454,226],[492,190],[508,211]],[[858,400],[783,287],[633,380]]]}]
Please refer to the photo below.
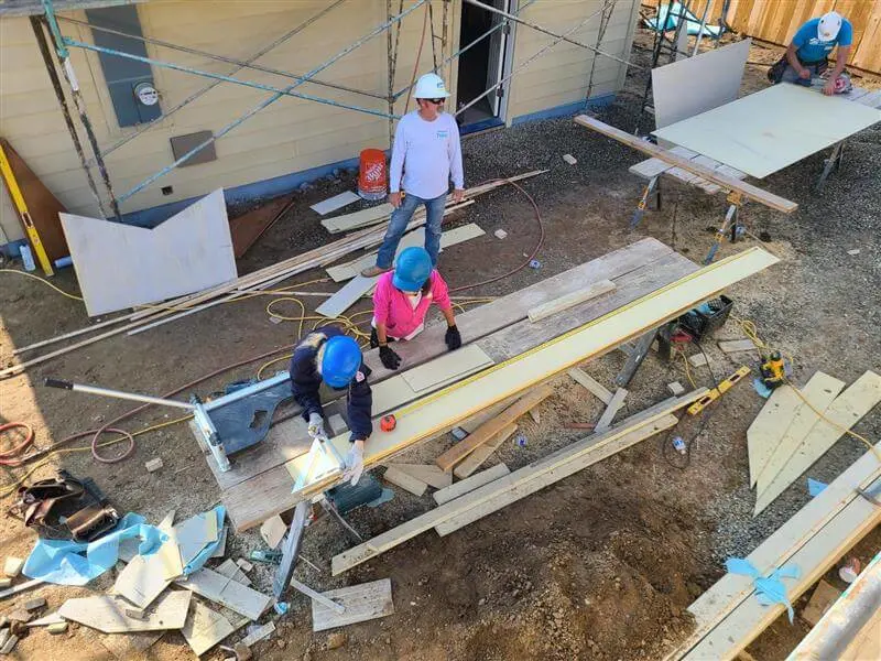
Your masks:
[{"label": "person in bright pink shirt, blue hard hat and black gloves", "polygon": [[440,278],[425,248],[405,248],[398,256],[394,271],[383,273],[373,292],[373,330],[370,346],[379,347],[379,358],[387,369],[398,369],[401,357],[390,342],[411,339],[425,327],[425,315],[435,303],[447,321],[444,340],[453,351],[461,346],[461,336],[453,316],[447,283]]}]

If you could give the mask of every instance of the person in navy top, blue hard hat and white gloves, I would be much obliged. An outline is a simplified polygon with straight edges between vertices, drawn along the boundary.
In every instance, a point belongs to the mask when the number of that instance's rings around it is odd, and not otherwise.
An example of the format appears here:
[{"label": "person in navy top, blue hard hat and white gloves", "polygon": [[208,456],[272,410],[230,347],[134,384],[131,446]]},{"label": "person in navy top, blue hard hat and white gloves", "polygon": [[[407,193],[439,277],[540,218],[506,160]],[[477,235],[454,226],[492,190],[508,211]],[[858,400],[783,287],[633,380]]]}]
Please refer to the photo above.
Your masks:
[{"label": "person in navy top, blue hard hat and white gloves", "polygon": [[373,431],[373,394],[358,343],[335,326],[316,328],[296,346],[291,357],[291,390],[303,407],[309,436],[326,438],[318,389],[322,381],[334,390],[347,390],[346,405],[351,427],[351,448],[346,455],[344,477],[355,485],[365,468],[365,442]]}]

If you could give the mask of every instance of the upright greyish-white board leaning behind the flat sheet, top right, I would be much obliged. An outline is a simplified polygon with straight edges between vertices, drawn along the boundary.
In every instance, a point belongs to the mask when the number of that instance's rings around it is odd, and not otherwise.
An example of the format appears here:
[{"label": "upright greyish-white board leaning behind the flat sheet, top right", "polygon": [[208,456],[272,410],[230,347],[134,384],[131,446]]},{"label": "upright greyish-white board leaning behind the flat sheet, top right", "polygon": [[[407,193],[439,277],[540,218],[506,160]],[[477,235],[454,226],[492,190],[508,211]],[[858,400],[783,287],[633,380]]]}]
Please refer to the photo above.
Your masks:
[{"label": "upright greyish-white board leaning behind the flat sheet, top right", "polygon": [[661,129],[737,99],[751,39],[652,69],[654,121]]}]

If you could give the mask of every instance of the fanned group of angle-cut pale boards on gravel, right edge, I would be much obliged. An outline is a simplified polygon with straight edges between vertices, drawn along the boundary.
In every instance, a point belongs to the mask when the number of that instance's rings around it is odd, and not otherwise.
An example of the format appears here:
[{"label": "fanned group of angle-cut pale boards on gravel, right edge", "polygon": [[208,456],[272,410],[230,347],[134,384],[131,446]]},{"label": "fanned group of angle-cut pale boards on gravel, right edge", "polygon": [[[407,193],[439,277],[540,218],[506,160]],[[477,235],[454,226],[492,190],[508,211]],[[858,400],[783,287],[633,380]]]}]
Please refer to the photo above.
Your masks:
[{"label": "fanned group of angle-cut pale boards on gravel, right edge", "polygon": [[[798,392],[790,384],[774,390],[747,431],[750,484],[761,513],[881,402],[881,377],[867,371],[849,388],[816,372]],[[822,413],[822,415],[820,415]]]}]

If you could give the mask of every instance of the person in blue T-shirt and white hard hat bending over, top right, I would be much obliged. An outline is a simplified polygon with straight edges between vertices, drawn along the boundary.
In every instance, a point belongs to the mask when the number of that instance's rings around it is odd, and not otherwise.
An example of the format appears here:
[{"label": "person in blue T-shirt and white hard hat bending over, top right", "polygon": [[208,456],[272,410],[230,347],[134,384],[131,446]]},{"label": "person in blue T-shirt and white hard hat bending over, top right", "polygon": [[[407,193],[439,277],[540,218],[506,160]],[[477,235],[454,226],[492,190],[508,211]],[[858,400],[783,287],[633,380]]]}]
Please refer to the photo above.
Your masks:
[{"label": "person in blue T-shirt and white hard hat bending over, top right", "polygon": [[823,86],[823,94],[847,91],[849,80],[842,74],[852,41],[853,26],[838,12],[830,11],[819,19],[811,19],[792,37],[785,57],[771,67],[769,78],[774,84],[795,83],[809,87],[814,77],[826,73],[829,66],[827,57],[838,46],[835,67]]}]

